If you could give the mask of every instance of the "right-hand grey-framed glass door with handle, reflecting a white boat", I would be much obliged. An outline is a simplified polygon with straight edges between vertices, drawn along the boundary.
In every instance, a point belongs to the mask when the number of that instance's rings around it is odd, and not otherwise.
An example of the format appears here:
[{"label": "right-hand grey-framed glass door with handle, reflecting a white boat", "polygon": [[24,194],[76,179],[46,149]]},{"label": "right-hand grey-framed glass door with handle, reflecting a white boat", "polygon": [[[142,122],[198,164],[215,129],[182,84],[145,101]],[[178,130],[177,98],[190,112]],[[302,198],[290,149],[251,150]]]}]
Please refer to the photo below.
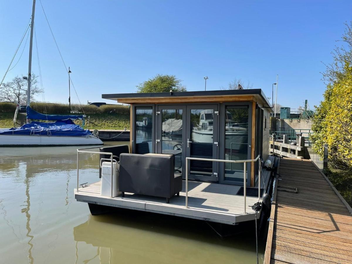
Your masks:
[{"label": "right-hand grey-framed glass door with handle, reflecting a white boat", "polygon": [[[187,151],[192,158],[216,159],[218,156],[218,106],[187,106]],[[217,163],[189,161],[189,178],[203,181],[217,180]]]}]

